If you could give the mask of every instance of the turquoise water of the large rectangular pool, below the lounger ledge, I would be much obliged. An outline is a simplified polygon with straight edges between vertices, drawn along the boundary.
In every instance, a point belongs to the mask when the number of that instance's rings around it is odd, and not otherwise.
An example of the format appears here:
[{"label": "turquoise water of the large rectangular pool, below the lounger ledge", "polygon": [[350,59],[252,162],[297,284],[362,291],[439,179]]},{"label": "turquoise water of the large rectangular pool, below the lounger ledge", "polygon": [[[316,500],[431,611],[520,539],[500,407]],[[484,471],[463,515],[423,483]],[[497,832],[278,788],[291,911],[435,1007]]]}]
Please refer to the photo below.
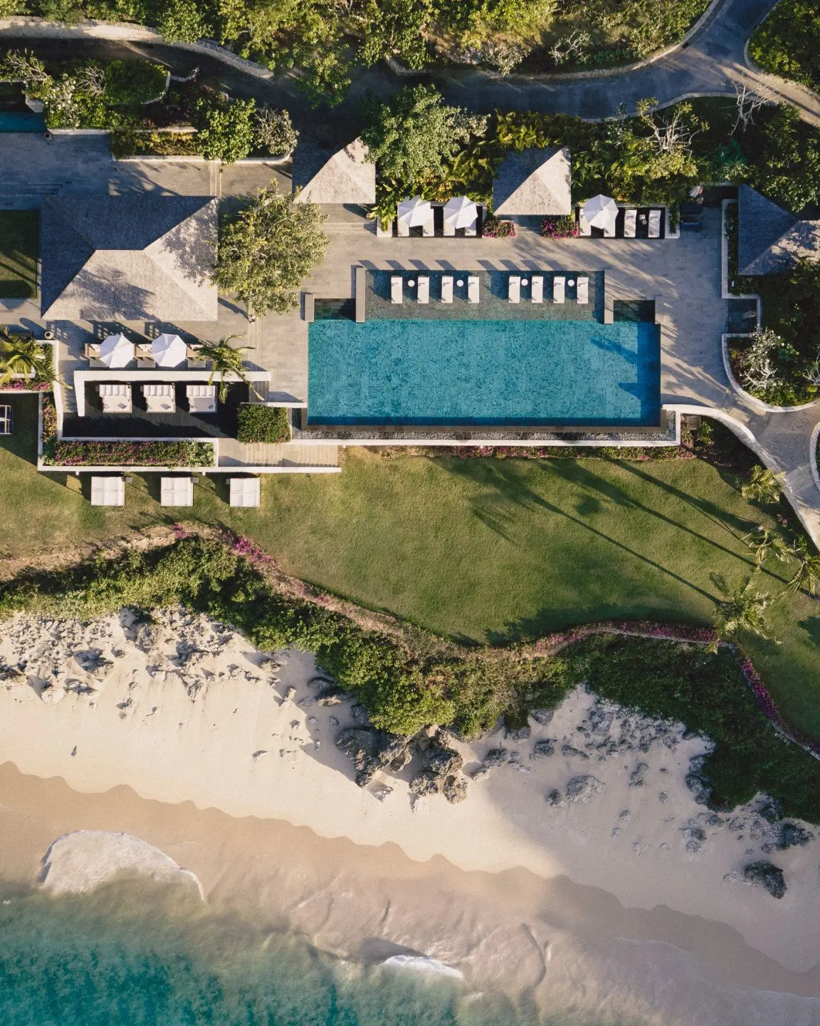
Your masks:
[{"label": "turquoise water of the large rectangular pool, below the lounger ledge", "polygon": [[660,333],[597,321],[316,321],[308,407],[317,426],[655,425]]}]

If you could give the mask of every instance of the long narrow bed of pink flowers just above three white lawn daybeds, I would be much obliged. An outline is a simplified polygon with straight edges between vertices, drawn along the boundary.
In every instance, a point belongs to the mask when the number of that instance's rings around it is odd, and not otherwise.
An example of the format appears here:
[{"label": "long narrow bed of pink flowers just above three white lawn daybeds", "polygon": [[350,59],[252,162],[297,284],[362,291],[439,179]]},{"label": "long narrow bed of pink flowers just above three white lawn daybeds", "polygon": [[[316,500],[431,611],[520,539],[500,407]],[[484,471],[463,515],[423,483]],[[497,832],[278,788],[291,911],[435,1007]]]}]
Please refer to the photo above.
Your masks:
[{"label": "long narrow bed of pink flowers just above three white lawn daybeds", "polygon": [[43,463],[53,467],[212,467],[213,445],[195,441],[52,438],[47,447],[43,445]]}]

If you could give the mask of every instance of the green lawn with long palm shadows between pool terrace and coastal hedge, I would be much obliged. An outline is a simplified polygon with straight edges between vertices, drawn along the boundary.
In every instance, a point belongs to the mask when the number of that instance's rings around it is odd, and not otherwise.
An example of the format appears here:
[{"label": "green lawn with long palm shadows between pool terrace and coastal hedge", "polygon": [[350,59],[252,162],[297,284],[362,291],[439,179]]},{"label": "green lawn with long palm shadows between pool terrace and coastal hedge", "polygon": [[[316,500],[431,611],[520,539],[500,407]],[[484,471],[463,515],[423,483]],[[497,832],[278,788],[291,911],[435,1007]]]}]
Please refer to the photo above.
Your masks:
[{"label": "green lawn with long palm shadows between pool terrace and coastal hedge", "polygon": [[[152,498],[157,477],[135,475],[123,510],[92,509],[76,478],[70,490],[0,450],[0,548],[12,555],[170,522]],[[613,617],[708,623],[709,571],[740,581],[750,570],[741,536],[769,520],[734,482],[699,460],[429,461],[358,450],[339,475],[263,478],[258,511],[230,510],[223,484],[205,479],[193,512],[252,537],[291,574],[442,634],[497,643]],[[786,575],[772,569],[763,586],[774,592]],[[749,638],[748,652],[783,713],[820,737],[820,605],[791,597],[771,622],[782,643]]]}]

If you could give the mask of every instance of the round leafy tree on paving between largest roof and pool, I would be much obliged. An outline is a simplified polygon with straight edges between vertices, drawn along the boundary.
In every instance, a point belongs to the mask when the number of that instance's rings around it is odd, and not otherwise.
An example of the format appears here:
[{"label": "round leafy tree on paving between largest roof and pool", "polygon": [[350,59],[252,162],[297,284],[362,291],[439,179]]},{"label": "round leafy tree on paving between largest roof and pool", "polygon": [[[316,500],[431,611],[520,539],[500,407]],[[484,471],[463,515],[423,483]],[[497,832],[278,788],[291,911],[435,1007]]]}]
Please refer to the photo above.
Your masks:
[{"label": "round leafy tree on paving between largest roof and pool", "polygon": [[295,310],[302,282],[325,255],[325,214],[297,195],[260,189],[219,223],[213,280],[245,304],[251,321]]}]

